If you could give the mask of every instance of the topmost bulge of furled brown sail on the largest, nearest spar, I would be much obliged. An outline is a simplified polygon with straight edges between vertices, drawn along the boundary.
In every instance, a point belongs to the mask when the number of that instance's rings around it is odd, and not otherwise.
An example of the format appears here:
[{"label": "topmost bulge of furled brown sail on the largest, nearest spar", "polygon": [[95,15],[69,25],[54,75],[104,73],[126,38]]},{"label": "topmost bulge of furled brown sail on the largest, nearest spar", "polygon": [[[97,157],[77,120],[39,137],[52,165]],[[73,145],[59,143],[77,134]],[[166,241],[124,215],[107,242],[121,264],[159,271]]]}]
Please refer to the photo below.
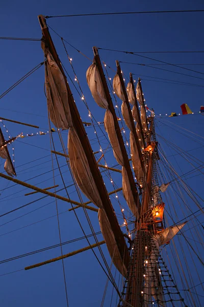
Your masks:
[{"label": "topmost bulge of furled brown sail on the largest, nearest spar", "polygon": [[68,129],[72,126],[72,121],[65,79],[44,42],[42,49],[46,57],[45,87],[49,117],[57,128]]}]

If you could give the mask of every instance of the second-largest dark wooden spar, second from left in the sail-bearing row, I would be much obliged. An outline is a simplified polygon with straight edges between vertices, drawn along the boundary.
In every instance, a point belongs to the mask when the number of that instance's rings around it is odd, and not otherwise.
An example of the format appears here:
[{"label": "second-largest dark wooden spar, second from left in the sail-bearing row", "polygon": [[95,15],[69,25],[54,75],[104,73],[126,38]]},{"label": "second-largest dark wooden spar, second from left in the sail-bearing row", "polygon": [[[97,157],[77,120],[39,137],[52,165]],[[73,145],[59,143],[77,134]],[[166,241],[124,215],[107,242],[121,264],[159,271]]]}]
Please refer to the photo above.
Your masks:
[{"label": "second-largest dark wooden spar, second from left in the sail-bearing row", "polygon": [[116,130],[118,142],[119,142],[119,145],[120,145],[120,149],[121,149],[121,153],[122,153],[122,157],[123,157],[123,161],[124,161],[124,167],[126,169],[127,177],[129,179],[130,186],[131,186],[131,191],[133,193],[133,198],[134,198],[136,206],[140,206],[139,196],[138,196],[137,188],[135,186],[135,180],[134,180],[134,177],[133,177],[133,173],[132,173],[132,170],[131,170],[129,159],[127,157],[127,152],[126,152],[124,142],[123,142],[123,139],[122,139],[122,135],[121,135],[120,127],[119,127],[119,124],[118,124],[117,116],[115,114],[115,109],[114,109],[113,102],[112,102],[112,99],[111,99],[111,95],[110,95],[110,92],[109,92],[109,89],[108,89],[108,85],[107,85],[107,82],[106,82],[104,71],[103,71],[103,68],[102,68],[102,65],[101,65],[101,62],[100,62],[98,50],[97,50],[96,47],[93,47],[93,53],[94,53],[95,63],[96,63],[97,68],[98,68],[98,72],[100,74],[101,82],[103,83],[103,87],[104,87],[104,91],[105,91],[105,94],[106,94],[106,99],[107,99],[107,102],[108,102],[108,105],[109,105],[109,109],[110,109],[111,114],[112,114],[113,119],[114,119],[115,130]]}]

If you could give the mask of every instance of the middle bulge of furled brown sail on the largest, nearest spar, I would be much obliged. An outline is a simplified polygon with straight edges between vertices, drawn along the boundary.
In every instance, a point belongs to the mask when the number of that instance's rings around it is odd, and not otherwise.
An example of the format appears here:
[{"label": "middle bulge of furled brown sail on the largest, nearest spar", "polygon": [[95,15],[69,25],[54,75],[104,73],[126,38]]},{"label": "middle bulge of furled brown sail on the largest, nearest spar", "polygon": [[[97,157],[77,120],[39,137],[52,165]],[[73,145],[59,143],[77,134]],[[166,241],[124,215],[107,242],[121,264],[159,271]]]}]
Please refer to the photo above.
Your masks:
[{"label": "middle bulge of furled brown sail on the largest, nearest spar", "polygon": [[92,177],[84,149],[74,127],[69,129],[68,152],[69,163],[75,181],[86,197],[98,208],[102,208],[103,204],[97,186]]}]

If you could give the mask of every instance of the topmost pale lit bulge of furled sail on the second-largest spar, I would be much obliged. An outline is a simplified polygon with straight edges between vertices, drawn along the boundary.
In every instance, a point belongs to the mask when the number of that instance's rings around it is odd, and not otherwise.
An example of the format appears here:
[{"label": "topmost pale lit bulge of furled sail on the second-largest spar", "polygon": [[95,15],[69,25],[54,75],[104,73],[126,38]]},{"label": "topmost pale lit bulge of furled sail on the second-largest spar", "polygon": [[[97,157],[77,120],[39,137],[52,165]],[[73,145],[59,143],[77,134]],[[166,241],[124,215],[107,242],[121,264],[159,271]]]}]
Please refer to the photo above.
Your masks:
[{"label": "topmost pale lit bulge of furled sail on the second-largest spar", "polygon": [[106,100],[106,94],[104,92],[104,87],[100,79],[98,68],[95,63],[91,64],[86,72],[86,80],[89,85],[89,89],[93,96],[93,99],[103,108],[108,108],[108,102]]}]

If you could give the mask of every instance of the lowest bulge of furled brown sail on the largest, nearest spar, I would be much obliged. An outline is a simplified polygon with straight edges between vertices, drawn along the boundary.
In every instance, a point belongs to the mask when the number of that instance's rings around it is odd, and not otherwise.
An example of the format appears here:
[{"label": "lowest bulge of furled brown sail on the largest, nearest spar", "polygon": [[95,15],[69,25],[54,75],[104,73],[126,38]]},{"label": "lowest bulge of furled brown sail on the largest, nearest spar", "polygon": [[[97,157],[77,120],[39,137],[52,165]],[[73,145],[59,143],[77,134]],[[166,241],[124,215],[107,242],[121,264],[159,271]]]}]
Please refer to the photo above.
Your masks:
[{"label": "lowest bulge of furled brown sail on the largest, nearest spar", "polygon": [[121,258],[119,249],[116,244],[116,240],[111,230],[111,225],[106,216],[106,212],[104,209],[98,210],[98,222],[100,226],[101,233],[105,239],[109,254],[112,258],[112,261],[117,268],[117,270],[125,277],[126,275],[126,267],[123,263],[123,259]]}]

